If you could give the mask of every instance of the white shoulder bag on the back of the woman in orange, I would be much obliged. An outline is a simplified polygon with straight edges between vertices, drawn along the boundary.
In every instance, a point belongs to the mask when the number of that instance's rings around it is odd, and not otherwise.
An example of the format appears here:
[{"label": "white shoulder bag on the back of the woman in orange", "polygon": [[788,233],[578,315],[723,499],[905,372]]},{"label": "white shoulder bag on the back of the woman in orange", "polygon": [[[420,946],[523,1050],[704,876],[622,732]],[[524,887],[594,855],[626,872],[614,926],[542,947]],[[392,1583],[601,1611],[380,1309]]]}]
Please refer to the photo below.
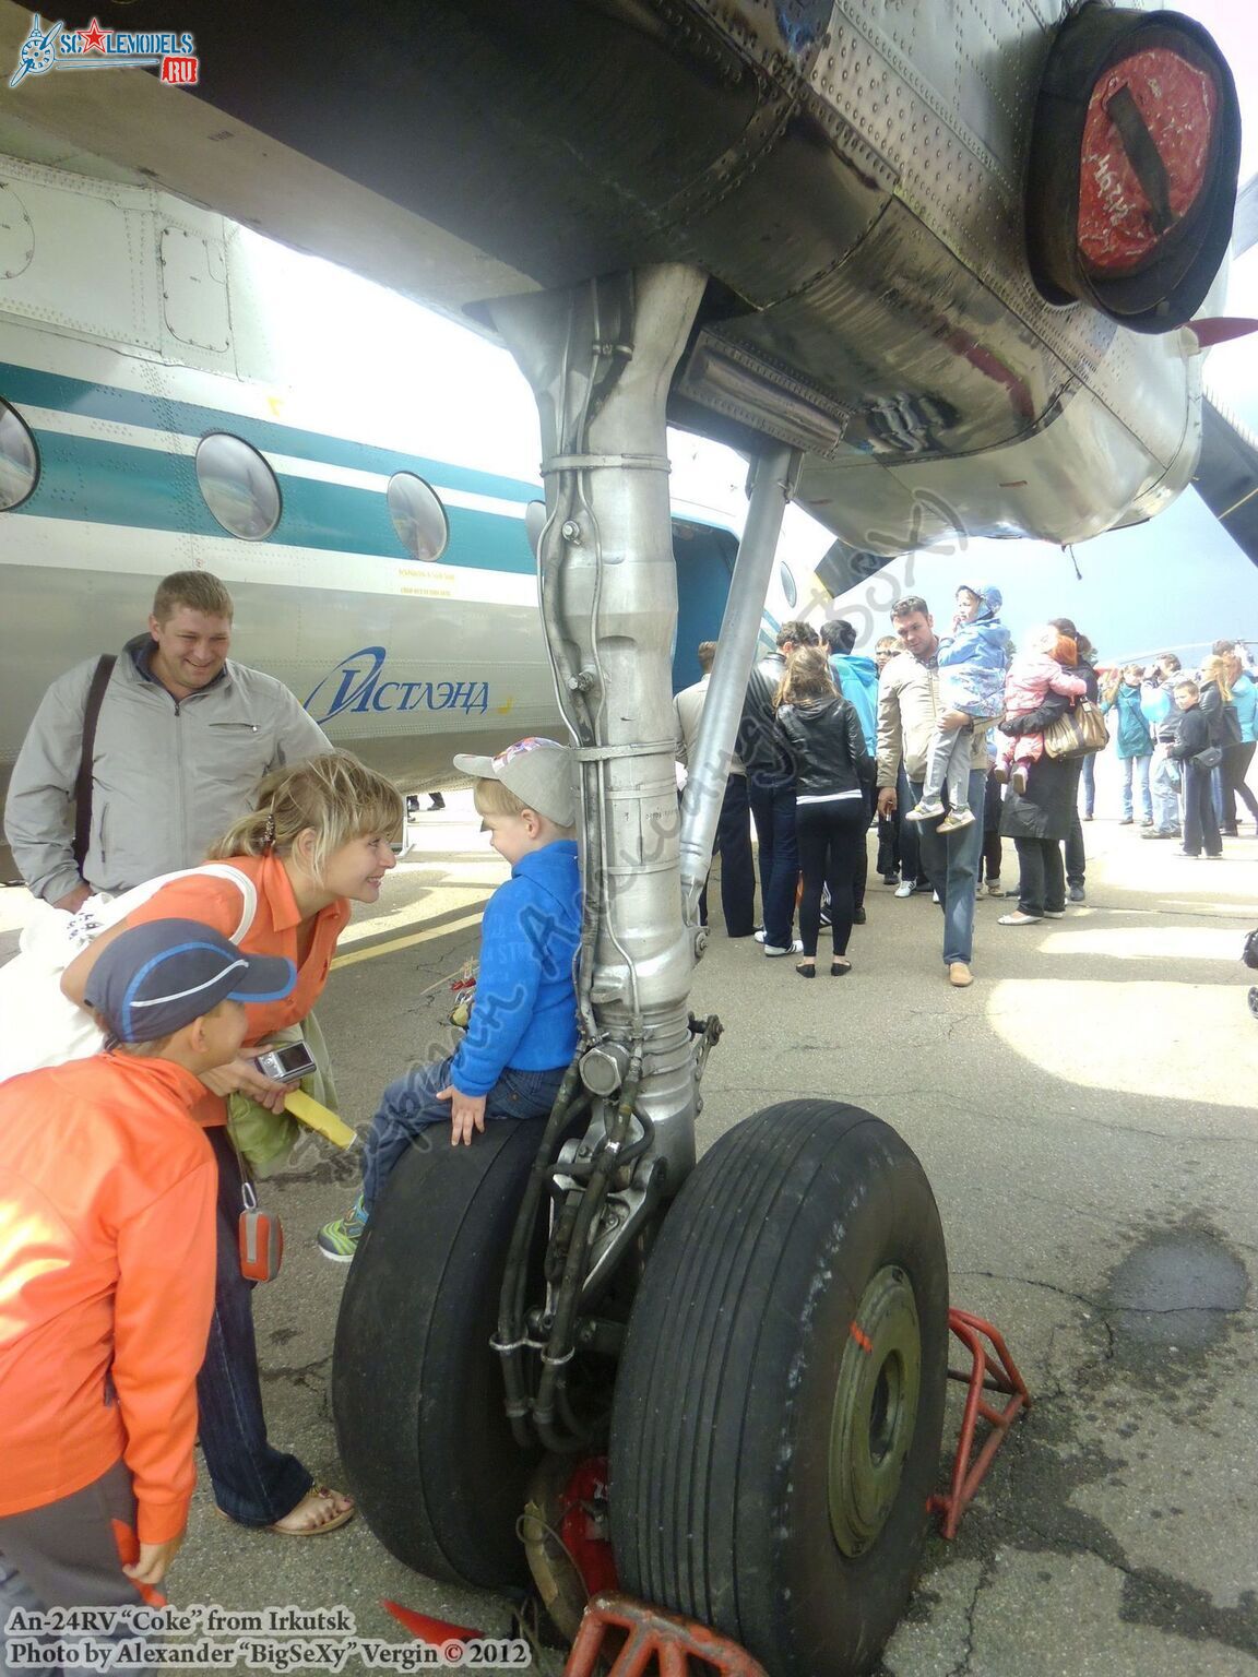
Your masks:
[{"label": "white shoulder bag on the back of the woman in orange", "polygon": [[89,897],[77,914],[35,904],[37,912],[22,929],[18,953],[0,968],[0,1083],[22,1072],[86,1060],[101,1048],[102,1036],[92,1015],[62,994],[65,968],[101,932],[121,924],[163,885],[195,874],[230,879],[240,887],[240,924],[231,932],[231,941],[238,942],[253,924],[258,892],[248,874],[226,862],[159,874],[119,897],[101,892]]}]

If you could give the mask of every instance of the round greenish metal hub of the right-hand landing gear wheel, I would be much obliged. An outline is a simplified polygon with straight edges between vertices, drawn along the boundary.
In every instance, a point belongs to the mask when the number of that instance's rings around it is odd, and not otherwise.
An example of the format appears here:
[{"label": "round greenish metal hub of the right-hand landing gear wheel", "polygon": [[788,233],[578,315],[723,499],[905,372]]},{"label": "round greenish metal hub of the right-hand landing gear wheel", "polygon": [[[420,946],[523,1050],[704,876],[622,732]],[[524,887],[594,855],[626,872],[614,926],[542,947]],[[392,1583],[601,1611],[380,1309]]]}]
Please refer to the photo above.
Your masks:
[{"label": "round greenish metal hub of the right-hand landing gear wheel", "polygon": [[849,1328],[830,1420],[830,1528],[844,1555],[881,1533],[912,1444],[921,1328],[912,1285],[887,1264],[869,1281]]}]

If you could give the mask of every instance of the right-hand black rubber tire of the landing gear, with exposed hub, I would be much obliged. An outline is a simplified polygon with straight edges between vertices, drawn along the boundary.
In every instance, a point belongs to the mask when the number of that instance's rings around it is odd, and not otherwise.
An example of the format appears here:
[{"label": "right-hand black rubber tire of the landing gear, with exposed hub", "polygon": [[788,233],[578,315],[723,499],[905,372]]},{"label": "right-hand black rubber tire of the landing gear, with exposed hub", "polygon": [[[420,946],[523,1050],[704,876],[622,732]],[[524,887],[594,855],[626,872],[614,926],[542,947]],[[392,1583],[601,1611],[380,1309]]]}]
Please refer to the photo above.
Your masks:
[{"label": "right-hand black rubber tire of the landing gear, with exposed hub", "polygon": [[[830,1427],[857,1306],[886,1273],[911,1290],[921,1382],[894,1501],[852,1556],[830,1521]],[[622,1586],[772,1677],[869,1670],[921,1565],[946,1384],[948,1259],[909,1147],[835,1102],[746,1119],[684,1184],[634,1301],[611,1446]]]}]

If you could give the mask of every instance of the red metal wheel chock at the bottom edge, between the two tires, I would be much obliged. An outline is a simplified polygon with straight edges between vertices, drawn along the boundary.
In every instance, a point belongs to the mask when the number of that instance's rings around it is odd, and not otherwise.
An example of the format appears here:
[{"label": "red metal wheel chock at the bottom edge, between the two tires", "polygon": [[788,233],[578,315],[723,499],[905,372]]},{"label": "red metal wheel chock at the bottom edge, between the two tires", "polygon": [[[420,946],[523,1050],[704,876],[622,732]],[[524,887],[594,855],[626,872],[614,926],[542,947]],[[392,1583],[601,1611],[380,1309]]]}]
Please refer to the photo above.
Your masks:
[{"label": "red metal wheel chock at the bottom edge, between the two tires", "polygon": [[[619,1652],[616,1640],[624,1637]],[[595,1595],[585,1608],[564,1677],[594,1677],[599,1662],[616,1659],[607,1677],[767,1677],[765,1667],[706,1625],[678,1618],[626,1595]]]}]

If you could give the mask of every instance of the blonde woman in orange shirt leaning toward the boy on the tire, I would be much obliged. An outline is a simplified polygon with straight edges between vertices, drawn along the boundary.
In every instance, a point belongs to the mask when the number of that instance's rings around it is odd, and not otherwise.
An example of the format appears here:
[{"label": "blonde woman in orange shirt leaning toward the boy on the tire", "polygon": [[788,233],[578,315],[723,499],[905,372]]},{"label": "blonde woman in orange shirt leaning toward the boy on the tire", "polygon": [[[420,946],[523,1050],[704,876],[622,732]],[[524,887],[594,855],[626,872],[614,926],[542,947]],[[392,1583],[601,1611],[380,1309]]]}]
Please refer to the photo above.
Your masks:
[{"label": "blonde woman in orange shirt leaning toward the boy on the tire", "polygon": [[[243,1093],[280,1112],[287,1083],[263,1077],[255,1057],[272,1033],[300,1025],[322,994],[351,902],[376,902],[396,867],[398,790],[346,751],[275,770],[258,787],[258,807],[211,847],[257,889],[250,927],[235,941],[245,954],[287,956],[297,983],[282,1001],[252,1003],[240,1055],[201,1082],[193,1107],[218,1164],[218,1275],[210,1343],[196,1382],[205,1464],[223,1514],[282,1536],[315,1536],[344,1526],[354,1504],[314,1484],[312,1474],[267,1439],[253,1338],[253,1283],[240,1271],[237,1226],[242,1164],[226,1132],[228,1097]],[[231,937],[242,892],[230,879],[190,874],[156,890],[119,926],[102,932],[65,969],[62,989],[82,1005],[91,971],[126,927],[149,921],[200,921]],[[314,1035],[314,1031],[312,1031]]]}]

